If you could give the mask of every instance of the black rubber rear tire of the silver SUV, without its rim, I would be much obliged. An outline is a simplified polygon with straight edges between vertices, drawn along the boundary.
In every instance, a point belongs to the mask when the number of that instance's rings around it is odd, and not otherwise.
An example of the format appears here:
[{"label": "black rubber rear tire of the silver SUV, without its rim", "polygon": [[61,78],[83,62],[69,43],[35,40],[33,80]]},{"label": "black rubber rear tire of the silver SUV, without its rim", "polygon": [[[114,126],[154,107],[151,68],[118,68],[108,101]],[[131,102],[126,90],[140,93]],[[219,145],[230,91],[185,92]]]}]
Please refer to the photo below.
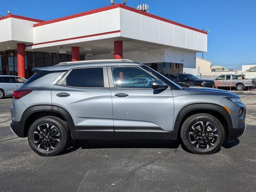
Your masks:
[{"label": "black rubber rear tire of the silver SUV, without its rim", "polygon": [[[40,150],[34,143],[34,139],[33,139],[34,130],[36,130],[39,125],[45,124],[45,123],[49,123],[56,126],[56,128],[60,132],[60,143],[54,150],[50,150],[50,151]],[[67,140],[68,140],[68,134],[66,132],[66,129],[64,128],[63,124],[55,118],[50,118],[50,117],[39,118],[30,126],[28,130],[28,143],[32,148],[32,150],[41,156],[54,156],[59,154],[66,147]]]}]

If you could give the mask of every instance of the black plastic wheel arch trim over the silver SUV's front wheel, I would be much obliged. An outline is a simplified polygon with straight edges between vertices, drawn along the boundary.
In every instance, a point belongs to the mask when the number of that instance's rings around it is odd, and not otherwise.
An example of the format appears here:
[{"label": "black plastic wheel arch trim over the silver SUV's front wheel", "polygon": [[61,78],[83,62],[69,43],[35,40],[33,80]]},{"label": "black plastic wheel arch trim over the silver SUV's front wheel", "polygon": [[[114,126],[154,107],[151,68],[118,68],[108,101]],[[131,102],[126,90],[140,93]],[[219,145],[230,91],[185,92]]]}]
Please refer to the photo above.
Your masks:
[{"label": "black plastic wheel arch trim over the silver SUV's front wheel", "polygon": [[228,138],[229,129],[233,127],[230,114],[224,107],[218,104],[209,103],[196,103],[184,106],[182,110],[180,110],[180,112],[178,113],[178,116],[174,122],[174,128],[171,138],[173,140],[176,140],[178,136],[180,136],[181,126],[186,118],[198,113],[210,114],[220,120],[225,130],[225,138]]}]

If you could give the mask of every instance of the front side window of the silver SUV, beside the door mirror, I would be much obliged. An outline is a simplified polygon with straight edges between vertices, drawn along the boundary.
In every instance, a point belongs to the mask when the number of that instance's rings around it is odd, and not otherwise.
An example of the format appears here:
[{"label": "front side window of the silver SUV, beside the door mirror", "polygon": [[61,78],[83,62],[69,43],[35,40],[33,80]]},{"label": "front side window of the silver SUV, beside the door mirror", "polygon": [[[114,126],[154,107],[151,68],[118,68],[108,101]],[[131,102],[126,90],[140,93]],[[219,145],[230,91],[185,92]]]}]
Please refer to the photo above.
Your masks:
[{"label": "front side window of the silver SUV, beside the door mirror", "polygon": [[112,67],[116,88],[152,88],[154,76],[139,67]]}]

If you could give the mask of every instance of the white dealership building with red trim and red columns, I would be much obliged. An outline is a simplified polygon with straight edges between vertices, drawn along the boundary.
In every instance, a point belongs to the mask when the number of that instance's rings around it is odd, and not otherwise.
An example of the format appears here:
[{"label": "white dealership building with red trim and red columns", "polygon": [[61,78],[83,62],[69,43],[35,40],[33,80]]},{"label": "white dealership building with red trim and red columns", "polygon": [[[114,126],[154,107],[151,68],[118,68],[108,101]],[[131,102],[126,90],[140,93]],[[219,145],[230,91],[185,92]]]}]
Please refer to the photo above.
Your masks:
[{"label": "white dealership building with red trim and red columns", "polygon": [[110,58],[196,74],[197,52],[207,52],[206,32],[122,4],[49,21],[0,19],[0,74],[30,77],[33,67]]}]

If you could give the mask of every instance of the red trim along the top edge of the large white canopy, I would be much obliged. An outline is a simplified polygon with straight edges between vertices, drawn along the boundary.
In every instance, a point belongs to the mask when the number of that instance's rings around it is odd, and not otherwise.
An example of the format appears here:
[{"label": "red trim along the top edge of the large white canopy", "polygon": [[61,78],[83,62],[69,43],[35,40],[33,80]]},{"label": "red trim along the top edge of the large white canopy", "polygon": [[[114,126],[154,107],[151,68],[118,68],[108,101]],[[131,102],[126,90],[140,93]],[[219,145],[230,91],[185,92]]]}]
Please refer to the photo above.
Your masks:
[{"label": "red trim along the top edge of the large white canopy", "polygon": [[136,12],[138,14],[142,14],[142,15],[154,18],[154,19],[158,19],[160,21],[164,21],[164,22],[171,23],[171,24],[174,24],[174,25],[177,25],[177,26],[181,26],[181,27],[184,27],[184,28],[187,28],[187,29],[190,29],[190,30],[194,30],[194,31],[197,31],[197,32],[200,32],[200,33],[207,34],[207,32],[205,32],[205,31],[202,31],[202,30],[190,27],[190,26],[186,26],[184,24],[180,24],[180,23],[177,23],[177,22],[174,22],[174,21],[171,21],[171,20],[168,20],[168,19],[156,16],[156,15],[153,15],[153,14],[150,14],[150,13],[146,13],[144,11],[140,11],[140,10],[137,10],[135,8],[123,5],[123,4],[114,4],[114,5],[110,5],[110,6],[107,6],[107,7],[103,7],[103,8],[99,8],[99,9],[94,9],[94,10],[91,10],[91,11],[87,11],[87,12],[83,12],[83,13],[78,13],[78,14],[71,15],[71,16],[66,16],[66,17],[62,17],[62,18],[58,18],[58,19],[54,19],[54,20],[49,20],[49,21],[37,23],[37,24],[34,24],[33,26],[34,27],[42,26],[42,25],[46,25],[46,24],[50,24],[50,23],[55,23],[55,22],[60,22],[60,21],[64,21],[64,20],[68,20],[68,19],[72,19],[72,18],[76,18],[76,17],[85,16],[85,15],[90,15],[90,14],[94,14],[94,13],[98,13],[98,12],[102,12],[102,11],[106,11],[106,10],[111,10],[111,9],[114,9],[114,8],[123,8],[123,9],[129,10],[129,11],[132,11],[132,12]]}]

